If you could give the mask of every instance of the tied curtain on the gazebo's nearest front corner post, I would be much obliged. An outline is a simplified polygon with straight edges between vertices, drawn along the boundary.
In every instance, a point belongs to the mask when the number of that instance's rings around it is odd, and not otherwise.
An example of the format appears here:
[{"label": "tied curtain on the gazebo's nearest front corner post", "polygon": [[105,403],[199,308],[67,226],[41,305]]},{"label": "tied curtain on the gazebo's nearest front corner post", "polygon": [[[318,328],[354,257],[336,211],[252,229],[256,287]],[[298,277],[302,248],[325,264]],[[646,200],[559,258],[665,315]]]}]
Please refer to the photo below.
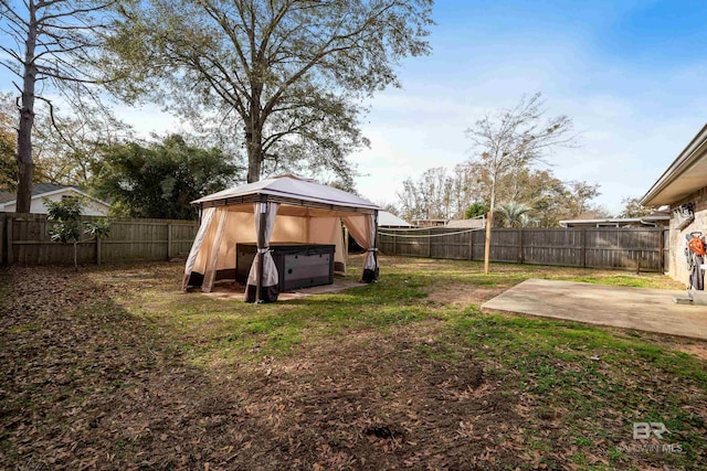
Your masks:
[{"label": "tied curtain on the gazebo's nearest front corner post", "polygon": [[[247,276],[247,287],[245,289],[245,301],[255,302],[257,296],[257,274],[260,269],[260,255],[263,255],[263,279],[261,282],[261,300],[265,302],[277,301],[279,295],[277,285],[279,282],[279,276],[277,274],[277,267],[273,260],[273,255],[270,253],[270,239],[273,235],[273,227],[275,226],[275,217],[277,216],[277,203],[255,203],[254,205],[254,218],[255,218],[255,234],[257,237],[257,255],[253,259],[251,265],[251,271]],[[265,213],[265,227],[261,227],[261,214]],[[261,232],[262,231],[262,232]],[[263,237],[260,237],[263,234]]]}]

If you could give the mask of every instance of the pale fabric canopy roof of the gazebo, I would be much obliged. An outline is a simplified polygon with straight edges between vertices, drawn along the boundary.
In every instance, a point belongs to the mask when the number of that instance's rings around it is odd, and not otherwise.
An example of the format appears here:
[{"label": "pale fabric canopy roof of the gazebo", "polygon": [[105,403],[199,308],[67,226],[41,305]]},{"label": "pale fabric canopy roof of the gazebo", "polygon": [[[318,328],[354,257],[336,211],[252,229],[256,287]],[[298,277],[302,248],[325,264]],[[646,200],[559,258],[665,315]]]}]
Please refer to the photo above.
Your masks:
[{"label": "pale fabric canopy roof of the gazebo", "polygon": [[210,194],[192,204],[203,204],[204,206],[242,204],[258,201],[261,195],[267,195],[268,200],[279,201],[300,206],[337,206],[361,208],[365,211],[379,210],[378,205],[347,193],[333,186],[316,183],[314,180],[303,179],[294,175],[282,175],[274,179],[261,180],[260,182],[247,183],[218,193]]}]

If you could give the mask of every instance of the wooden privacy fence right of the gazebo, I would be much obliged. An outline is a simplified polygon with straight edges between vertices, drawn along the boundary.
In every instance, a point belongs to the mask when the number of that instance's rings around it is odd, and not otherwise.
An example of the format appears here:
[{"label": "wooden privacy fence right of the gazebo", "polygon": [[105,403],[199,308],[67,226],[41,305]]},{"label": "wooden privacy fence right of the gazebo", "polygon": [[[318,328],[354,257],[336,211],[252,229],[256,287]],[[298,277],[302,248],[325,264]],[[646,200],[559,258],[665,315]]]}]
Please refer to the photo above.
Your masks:
[{"label": "wooden privacy fence right of the gazebo", "polygon": [[[483,260],[485,231],[386,229],[378,246],[387,255]],[[490,260],[563,267],[665,270],[664,232],[648,228],[494,228]]]}]

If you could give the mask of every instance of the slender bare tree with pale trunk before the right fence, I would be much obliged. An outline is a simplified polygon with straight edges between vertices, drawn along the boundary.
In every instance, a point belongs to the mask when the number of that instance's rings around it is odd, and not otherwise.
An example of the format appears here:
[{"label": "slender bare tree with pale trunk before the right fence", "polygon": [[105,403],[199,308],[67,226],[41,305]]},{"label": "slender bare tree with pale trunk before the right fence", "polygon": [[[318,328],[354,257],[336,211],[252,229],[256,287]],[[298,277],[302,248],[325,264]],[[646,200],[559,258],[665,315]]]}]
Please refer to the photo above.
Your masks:
[{"label": "slender bare tree with pale trunk before the right fence", "polygon": [[487,114],[466,130],[475,159],[488,171],[490,201],[486,221],[484,274],[488,274],[490,227],[496,205],[497,184],[504,176],[527,165],[544,162],[557,147],[577,142],[572,120],[560,115],[547,118],[541,95],[523,97],[514,108]]}]

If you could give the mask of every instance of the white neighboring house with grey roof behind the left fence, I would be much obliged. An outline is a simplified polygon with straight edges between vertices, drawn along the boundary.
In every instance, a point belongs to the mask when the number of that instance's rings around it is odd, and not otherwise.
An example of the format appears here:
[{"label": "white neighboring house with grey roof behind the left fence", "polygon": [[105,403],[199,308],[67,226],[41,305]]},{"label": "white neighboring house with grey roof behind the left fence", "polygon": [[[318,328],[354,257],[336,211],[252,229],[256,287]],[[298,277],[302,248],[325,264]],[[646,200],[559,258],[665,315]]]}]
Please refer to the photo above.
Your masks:
[{"label": "white neighboring house with grey roof behind the left fence", "polygon": [[[61,201],[66,197],[80,197],[84,200],[82,214],[86,216],[107,216],[110,204],[105,201],[95,199],[76,186],[57,185],[54,183],[36,183],[32,186],[32,203],[30,213],[46,214],[46,207],[42,199],[48,197],[51,201]],[[0,213],[14,213],[17,203],[17,194],[7,191],[0,191]]]}]

